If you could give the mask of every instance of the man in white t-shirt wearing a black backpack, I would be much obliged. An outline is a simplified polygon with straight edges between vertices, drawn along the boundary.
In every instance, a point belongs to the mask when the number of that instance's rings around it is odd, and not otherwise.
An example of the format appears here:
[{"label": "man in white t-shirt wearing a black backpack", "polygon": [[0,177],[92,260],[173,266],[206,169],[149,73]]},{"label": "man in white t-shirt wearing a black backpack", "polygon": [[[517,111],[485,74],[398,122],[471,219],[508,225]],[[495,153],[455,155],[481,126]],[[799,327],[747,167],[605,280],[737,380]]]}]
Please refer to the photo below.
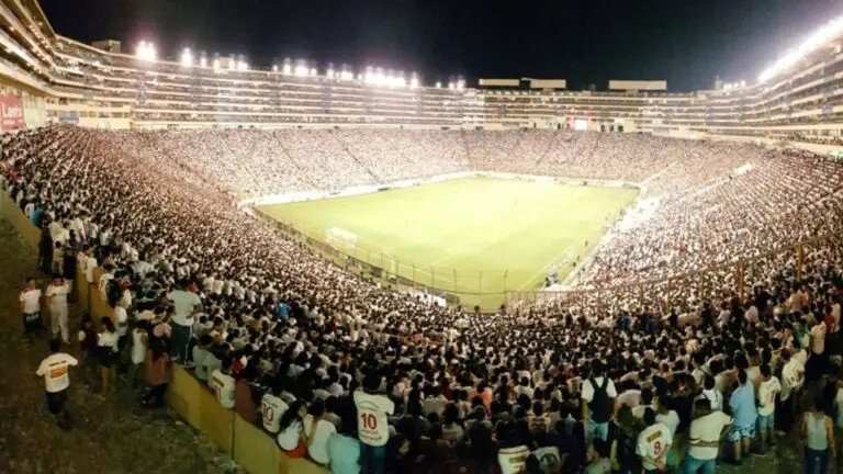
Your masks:
[{"label": "man in white t-shirt wearing a black backpack", "polygon": [[609,437],[609,420],[617,413],[618,392],[606,374],[606,365],[599,359],[592,361],[592,376],[583,382],[582,406],[586,443],[597,438],[606,441]]}]

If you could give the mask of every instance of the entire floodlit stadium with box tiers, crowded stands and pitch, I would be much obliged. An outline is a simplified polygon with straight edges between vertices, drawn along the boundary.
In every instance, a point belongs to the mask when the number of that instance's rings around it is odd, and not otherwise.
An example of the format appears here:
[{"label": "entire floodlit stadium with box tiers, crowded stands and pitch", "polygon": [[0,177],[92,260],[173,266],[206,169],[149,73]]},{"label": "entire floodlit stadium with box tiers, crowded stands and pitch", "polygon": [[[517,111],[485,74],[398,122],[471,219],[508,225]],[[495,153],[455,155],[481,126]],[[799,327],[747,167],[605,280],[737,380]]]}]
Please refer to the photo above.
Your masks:
[{"label": "entire floodlit stadium with box tiers, crowded stands and pitch", "polygon": [[[387,411],[391,442],[448,441],[407,472],[526,472],[538,458],[548,473],[603,456],[597,379],[617,392],[612,426],[626,413],[641,432],[671,428],[676,470],[713,463],[689,440],[700,396],[724,397],[739,425],[729,395],[753,391],[771,424],[756,438],[753,415],[753,451],[776,437],[773,405],[795,437],[821,394],[843,399],[827,393],[840,372],[843,16],[757,80],[675,93],[663,80],[573,91],[561,78],[259,68],[190,48],[167,59],[147,41],[123,52],[61,36],[35,0],[0,4],[3,218],[40,250],[45,281],[75,281],[77,316],[127,315],[124,340],[131,321],[149,341],[136,364],[157,366],[166,346],[180,363],[148,395],[245,471],[338,472],[311,435],[299,463],[297,433],[282,437],[304,421],[268,421],[273,400],[312,410],[302,433],[328,424],[370,445],[358,395],[386,393],[402,410]],[[177,292],[200,303],[183,313]],[[68,342],[64,318],[53,336]],[[345,429],[318,418],[327,398]],[[582,436],[560,431],[566,417]],[[481,452],[486,425],[495,448]],[[739,461],[741,429],[720,448]],[[667,469],[661,448],[634,454],[612,472]]]}]

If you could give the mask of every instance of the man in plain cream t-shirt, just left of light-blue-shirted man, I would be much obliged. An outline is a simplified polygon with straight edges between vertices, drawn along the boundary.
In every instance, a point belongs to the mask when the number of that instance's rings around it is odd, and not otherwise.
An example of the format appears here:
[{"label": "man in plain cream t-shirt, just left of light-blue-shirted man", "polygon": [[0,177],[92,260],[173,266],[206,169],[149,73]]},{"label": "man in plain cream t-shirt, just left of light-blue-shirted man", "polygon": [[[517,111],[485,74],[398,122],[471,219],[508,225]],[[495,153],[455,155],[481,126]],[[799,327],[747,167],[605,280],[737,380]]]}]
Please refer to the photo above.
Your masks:
[{"label": "man in plain cream t-shirt, just left of light-blue-shirted man", "polygon": [[712,409],[708,399],[698,398],[694,402],[696,418],[690,422],[688,455],[685,456],[683,472],[713,473],[720,440],[732,425],[732,418],[724,413]]}]

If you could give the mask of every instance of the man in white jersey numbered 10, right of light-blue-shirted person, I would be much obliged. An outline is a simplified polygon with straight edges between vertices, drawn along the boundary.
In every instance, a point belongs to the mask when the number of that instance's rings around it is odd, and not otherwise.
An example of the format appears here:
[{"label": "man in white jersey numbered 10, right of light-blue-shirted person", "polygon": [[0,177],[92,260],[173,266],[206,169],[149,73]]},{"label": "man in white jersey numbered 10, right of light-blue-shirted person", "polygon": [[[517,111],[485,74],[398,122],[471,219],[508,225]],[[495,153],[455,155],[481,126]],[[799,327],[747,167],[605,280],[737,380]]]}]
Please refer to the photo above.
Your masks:
[{"label": "man in white jersey numbered 10, right of light-blue-shirted person", "polygon": [[363,390],[355,391],[357,406],[357,433],[360,439],[360,466],[363,471],[381,474],[390,439],[387,415],[395,411],[395,404],[379,394],[381,379],[369,374],[363,379]]}]

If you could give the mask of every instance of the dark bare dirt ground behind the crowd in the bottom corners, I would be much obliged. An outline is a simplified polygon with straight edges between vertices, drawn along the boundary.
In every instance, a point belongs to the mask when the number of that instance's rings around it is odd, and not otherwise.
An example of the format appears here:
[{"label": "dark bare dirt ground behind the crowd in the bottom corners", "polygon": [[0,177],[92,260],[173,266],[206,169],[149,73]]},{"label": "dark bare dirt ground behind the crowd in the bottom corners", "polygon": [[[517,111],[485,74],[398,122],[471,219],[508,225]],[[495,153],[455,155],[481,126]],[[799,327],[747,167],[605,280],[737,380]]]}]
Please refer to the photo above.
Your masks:
[{"label": "dark bare dirt ground behind the crowd in the bottom corners", "polygon": [[[75,427],[64,431],[56,425],[46,409],[43,381],[35,375],[47,356],[47,330],[32,341],[23,338],[18,314],[25,278],[46,283],[35,266],[36,255],[0,216],[0,474],[241,473],[207,438],[167,410],[140,407],[131,388],[109,398],[92,394],[79,369],[70,373],[68,397]],[[72,311],[70,328],[78,321]],[[717,472],[801,473],[801,443],[796,436],[782,438],[774,453]],[[840,471],[832,466],[830,472]]]}]

